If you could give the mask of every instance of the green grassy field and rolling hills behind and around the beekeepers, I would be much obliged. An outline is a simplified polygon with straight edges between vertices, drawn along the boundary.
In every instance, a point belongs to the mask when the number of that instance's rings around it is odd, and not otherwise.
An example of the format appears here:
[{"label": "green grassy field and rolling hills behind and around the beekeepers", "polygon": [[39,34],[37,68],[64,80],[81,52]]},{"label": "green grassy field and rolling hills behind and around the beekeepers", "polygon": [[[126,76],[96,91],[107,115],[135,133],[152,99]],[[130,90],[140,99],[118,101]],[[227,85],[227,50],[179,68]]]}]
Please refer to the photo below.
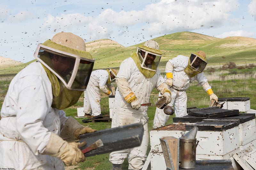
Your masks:
[{"label": "green grassy field and rolling hills behind and around the beekeepers", "polygon": [[[227,97],[249,97],[251,109],[256,110],[256,59],[255,47],[256,39],[246,37],[227,37],[219,39],[197,33],[181,32],[168,34],[158,37],[156,40],[163,52],[159,69],[164,73],[166,62],[177,55],[190,55],[191,52],[204,50],[207,54],[208,61],[204,71],[213,92],[219,98]],[[99,40],[86,43],[86,49],[96,59],[95,69],[116,68],[119,69],[120,63],[129,57],[136,46],[123,47],[115,41]],[[231,62],[232,61],[232,62]],[[24,63],[15,67],[0,68],[0,108],[2,107],[4,97],[12,78],[26,65]],[[163,74],[164,76],[164,74]],[[114,84],[115,85],[115,84]],[[102,114],[108,114],[108,96],[101,94]],[[196,82],[192,83],[187,90],[188,107],[209,107],[209,96],[203,88]],[[67,116],[77,116],[77,107],[83,107],[83,97],[76,105],[66,108]],[[158,92],[156,89],[151,93],[151,103],[156,103]],[[148,109],[148,129],[153,129],[153,119],[156,107],[150,106]],[[170,117],[167,124],[172,124]],[[84,126],[89,126],[97,130],[111,127],[111,122],[89,122],[82,123],[82,119],[76,119]],[[148,147],[148,152],[150,145]],[[111,163],[108,161],[109,153],[101,154],[86,158],[85,162],[79,163],[78,166],[70,166],[67,169],[85,169],[85,170],[109,170]],[[128,169],[127,160],[122,165],[123,169]]]}]

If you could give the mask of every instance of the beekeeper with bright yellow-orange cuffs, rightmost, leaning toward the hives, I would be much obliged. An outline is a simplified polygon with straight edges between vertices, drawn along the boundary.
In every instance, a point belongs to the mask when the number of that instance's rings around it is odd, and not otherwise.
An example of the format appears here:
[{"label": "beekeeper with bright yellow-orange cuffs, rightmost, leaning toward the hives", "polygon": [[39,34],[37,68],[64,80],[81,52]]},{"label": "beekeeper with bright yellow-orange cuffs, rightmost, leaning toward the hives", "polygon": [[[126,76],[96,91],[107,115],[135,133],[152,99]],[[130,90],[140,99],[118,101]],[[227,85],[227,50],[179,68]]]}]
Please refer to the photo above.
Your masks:
[{"label": "beekeeper with bright yellow-orange cuffs, rightmost, leaning toward the hives", "polygon": [[[197,81],[210,96],[210,100],[218,102],[218,97],[213,93],[212,87],[204,76],[203,70],[206,66],[206,55],[204,51],[191,54],[190,57],[178,55],[166,63],[166,84],[170,86],[172,101],[168,105],[174,106],[175,116],[182,117],[187,113],[187,94],[186,90],[189,83]],[[156,108],[154,118],[154,128],[165,125],[170,115],[164,114],[163,109]]]}]

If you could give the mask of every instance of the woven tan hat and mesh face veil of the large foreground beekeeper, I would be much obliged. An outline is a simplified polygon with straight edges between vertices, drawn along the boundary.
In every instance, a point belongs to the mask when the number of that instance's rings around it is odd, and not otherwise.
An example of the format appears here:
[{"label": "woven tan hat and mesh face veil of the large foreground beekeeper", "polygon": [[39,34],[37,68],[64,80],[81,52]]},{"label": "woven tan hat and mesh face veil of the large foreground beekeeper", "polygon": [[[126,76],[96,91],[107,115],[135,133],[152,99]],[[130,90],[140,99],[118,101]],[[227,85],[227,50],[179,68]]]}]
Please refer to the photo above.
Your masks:
[{"label": "woven tan hat and mesh face veil of the large foreground beekeeper", "polygon": [[[57,34],[56,34],[57,35]],[[69,90],[84,91],[88,84],[94,59],[85,51],[84,40],[72,33],[64,38],[54,37],[38,44],[35,58],[47,67]],[[56,39],[56,38],[55,38]]]}]

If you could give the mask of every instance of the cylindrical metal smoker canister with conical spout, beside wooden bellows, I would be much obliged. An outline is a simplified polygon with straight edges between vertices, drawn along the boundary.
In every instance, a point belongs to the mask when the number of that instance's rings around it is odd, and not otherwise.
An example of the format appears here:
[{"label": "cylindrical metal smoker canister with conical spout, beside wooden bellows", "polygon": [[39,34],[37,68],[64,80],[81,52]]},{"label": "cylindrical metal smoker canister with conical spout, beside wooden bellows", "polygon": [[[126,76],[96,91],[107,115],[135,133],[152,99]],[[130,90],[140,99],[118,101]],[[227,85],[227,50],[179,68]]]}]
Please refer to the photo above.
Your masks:
[{"label": "cylindrical metal smoker canister with conical spout, beside wooden bellows", "polygon": [[190,131],[184,134],[180,139],[180,156],[179,167],[190,169],[196,167],[196,146],[199,141],[196,141],[196,133],[198,128],[194,126]]}]

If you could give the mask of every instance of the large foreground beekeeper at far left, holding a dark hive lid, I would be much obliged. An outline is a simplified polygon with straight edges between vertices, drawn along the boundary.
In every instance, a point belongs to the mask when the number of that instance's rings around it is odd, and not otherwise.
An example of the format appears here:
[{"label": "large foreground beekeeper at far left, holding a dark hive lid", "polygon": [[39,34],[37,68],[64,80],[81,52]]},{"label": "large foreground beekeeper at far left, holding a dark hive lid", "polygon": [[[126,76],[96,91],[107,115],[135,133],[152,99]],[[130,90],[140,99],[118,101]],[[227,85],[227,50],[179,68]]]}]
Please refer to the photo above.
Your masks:
[{"label": "large foreground beekeeper at far left, holding a dark hive lid", "polygon": [[37,61],[11,81],[1,109],[0,167],[14,169],[65,169],[84,161],[79,147],[68,143],[83,127],[62,110],[74,105],[86,89],[94,59],[84,40],[72,33],[57,33],[39,44]]}]

